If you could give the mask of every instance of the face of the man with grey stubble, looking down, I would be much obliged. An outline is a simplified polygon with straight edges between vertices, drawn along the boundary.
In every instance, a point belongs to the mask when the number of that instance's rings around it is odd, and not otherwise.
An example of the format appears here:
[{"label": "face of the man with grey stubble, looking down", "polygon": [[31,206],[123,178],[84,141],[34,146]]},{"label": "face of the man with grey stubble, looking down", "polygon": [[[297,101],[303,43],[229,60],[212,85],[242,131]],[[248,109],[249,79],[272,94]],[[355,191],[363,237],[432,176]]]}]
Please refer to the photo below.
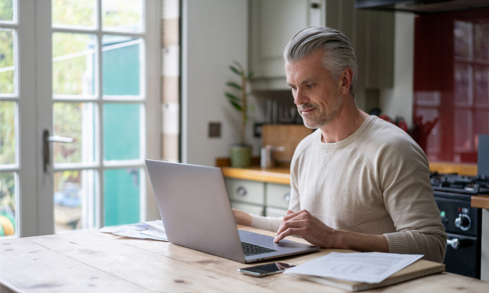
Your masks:
[{"label": "face of the man with grey stubble, looking down", "polygon": [[343,99],[330,71],[321,66],[322,57],[322,50],[317,50],[300,61],[285,64],[294,104],[304,125],[313,129],[331,123]]}]

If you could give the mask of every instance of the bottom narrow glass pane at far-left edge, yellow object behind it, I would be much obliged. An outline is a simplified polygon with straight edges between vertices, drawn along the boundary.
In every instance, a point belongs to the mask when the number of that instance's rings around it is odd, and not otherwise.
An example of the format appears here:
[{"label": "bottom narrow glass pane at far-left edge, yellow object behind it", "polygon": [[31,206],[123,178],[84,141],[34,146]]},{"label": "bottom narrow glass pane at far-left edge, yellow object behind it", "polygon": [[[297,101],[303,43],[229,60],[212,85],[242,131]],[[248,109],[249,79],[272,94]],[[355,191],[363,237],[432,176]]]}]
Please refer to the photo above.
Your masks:
[{"label": "bottom narrow glass pane at far-left edge, yellow object behind it", "polygon": [[15,235],[17,173],[0,173],[0,236]]}]

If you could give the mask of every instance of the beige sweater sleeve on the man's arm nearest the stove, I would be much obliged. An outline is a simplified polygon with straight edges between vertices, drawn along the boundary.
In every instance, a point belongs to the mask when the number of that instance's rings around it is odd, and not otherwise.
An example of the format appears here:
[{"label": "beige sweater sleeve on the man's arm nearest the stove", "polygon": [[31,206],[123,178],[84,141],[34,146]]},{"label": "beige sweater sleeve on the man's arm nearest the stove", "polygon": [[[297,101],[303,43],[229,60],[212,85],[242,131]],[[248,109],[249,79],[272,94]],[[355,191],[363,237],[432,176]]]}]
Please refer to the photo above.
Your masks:
[{"label": "beige sweater sleeve on the man's arm nearest the stove", "polygon": [[396,227],[396,232],[384,234],[389,252],[423,254],[443,262],[447,235],[422,149],[412,141],[397,140],[379,152],[377,167],[385,207]]}]

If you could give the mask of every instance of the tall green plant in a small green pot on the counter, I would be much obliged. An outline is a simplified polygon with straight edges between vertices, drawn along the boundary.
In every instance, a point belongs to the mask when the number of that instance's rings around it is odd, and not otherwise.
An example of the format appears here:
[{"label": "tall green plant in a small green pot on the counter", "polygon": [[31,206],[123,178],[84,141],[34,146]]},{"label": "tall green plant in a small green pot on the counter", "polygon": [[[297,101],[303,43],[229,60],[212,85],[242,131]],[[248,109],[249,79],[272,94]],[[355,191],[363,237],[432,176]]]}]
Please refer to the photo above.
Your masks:
[{"label": "tall green plant in a small green pot on the counter", "polygon": [[249,109],[246,99],[248,96],[248,93],[246,92],[246,84],[253,73],[246,73],[243,66],[237,61],[229,65],[229,69],[239,76],[240,83],[227,82],[226,85],[232,91],[226,91],[225,96],[227,97],[229,103],[231,103],[236,110],[241,112],[240,143],[231,145],[229,148],[231,167],[245,168],[249,167],[251,163],[251,145],[246,143],[246,124],[248,121]]}]

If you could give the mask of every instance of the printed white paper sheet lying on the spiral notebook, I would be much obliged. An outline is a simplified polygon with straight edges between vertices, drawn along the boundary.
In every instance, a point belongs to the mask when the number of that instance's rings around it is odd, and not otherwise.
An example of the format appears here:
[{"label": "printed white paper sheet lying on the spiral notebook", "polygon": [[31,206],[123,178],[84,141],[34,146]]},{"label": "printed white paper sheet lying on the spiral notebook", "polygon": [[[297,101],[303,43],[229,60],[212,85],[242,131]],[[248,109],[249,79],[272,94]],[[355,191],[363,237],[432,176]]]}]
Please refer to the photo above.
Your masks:
[{"label": "printed white paper sheet lying on the spiral notebook", "polygon": [[378,283],[420,259],[420,254],[331,252],[285,271],[348,281]]}]

